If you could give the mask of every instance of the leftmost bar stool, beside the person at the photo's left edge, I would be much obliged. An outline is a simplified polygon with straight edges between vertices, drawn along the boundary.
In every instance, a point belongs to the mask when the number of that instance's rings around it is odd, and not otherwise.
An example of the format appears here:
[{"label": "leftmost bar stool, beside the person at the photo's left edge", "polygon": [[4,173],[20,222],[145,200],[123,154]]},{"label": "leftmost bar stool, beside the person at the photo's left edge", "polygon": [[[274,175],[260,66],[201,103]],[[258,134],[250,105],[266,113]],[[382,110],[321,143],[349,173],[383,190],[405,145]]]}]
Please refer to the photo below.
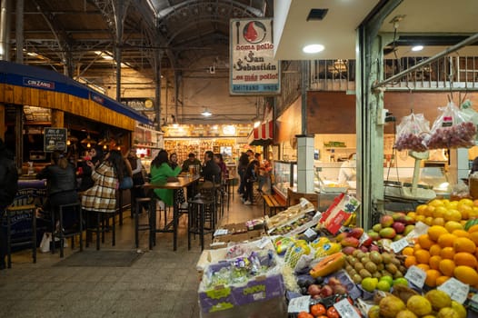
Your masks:
[{"label": "leftmost bar stool, beside the person at the photo's left edge", "polygon": [[[35,204],[9,206],[6,208],[6,262],[7,267],[12,268],[12,247],[32,245],[32,257],[36,263],[36,206]],[[30,241],[12,239],[12,214],[29,214],[32,219],[32,238]]]}]

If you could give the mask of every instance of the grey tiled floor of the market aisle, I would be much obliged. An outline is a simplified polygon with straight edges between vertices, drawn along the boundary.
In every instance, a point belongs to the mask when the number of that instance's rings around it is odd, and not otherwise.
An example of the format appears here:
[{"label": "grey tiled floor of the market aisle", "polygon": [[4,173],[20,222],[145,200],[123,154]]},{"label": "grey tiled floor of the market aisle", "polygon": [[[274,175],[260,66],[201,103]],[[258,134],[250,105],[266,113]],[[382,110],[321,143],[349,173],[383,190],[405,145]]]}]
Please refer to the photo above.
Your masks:
[{"label": "grey tiled floor of the market aisle", "polygon": [[[102,250],[135,250],[128,215],[125,212],[123,226],[116,227],[116,246],[108,234]],[[235,194],[220,223],[262,215],[262,203],[244,205]],[[172,234],[158,234],[149,251],[143,232],[138,250],[143,255],[131,267],[55,266],[61,260],[58,253],[40,253],[34,264],[29,251],[15,253],[12,268],[0,271],[0,317],[199,317],[195,264],[201,249],[196,240],[187,250],[186,222],[184,215],[176,252]],[[71,253],[79,250],[65,249],[65,257]]]}]

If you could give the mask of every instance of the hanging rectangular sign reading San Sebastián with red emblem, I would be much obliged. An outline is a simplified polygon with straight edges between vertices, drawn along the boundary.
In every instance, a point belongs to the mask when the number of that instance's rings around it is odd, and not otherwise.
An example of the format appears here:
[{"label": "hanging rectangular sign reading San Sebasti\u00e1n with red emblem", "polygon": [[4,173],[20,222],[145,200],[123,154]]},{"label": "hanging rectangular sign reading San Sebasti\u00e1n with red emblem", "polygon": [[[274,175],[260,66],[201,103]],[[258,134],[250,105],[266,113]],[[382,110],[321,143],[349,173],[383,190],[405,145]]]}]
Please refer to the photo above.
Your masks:
[{"label": "hanging rectangular sign reading San Sebasti\u00e1n with red emblem", "polygon": [[280,94],[274,61],[273,19],[231,19],[229,93]]}]

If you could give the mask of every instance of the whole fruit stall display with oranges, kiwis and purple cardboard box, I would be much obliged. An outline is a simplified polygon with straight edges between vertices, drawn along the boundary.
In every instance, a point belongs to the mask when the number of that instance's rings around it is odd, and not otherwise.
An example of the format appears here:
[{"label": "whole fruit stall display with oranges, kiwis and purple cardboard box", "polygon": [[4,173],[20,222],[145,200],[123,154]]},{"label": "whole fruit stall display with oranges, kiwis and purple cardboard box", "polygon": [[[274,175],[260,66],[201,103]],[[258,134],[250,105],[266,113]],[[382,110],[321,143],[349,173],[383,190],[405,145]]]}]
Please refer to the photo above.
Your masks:
[{"label": "whole fruit stall display with oranges, kiwis and purple cardboard box", "polygon": [[302,199],[218,229],[197,263],[201,316],[474,316],[475,201],[434,199],[369,231],[354,225],[359,205],[340,194],[321,214]]}]

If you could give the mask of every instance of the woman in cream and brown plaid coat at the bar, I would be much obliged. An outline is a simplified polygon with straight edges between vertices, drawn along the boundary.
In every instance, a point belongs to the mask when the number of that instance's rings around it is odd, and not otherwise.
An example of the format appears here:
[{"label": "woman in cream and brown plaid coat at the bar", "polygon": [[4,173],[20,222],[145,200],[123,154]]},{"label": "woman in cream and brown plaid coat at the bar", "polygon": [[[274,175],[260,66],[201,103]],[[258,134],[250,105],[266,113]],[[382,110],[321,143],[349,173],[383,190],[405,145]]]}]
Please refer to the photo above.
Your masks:
[{"label": "woman in cream and brown plaid coat at the bar", "polygon": [[[92,178],[95,182],[91,188],[82,194],[82,207],[86,211],[115,213],[116,189],[123,180],[124,159],[117,150],[112,150],[105,155],[105,161],[95,168],[92,163],[87,163],[92,168]],[[90,165],[91,164],[91,165]]]}]

